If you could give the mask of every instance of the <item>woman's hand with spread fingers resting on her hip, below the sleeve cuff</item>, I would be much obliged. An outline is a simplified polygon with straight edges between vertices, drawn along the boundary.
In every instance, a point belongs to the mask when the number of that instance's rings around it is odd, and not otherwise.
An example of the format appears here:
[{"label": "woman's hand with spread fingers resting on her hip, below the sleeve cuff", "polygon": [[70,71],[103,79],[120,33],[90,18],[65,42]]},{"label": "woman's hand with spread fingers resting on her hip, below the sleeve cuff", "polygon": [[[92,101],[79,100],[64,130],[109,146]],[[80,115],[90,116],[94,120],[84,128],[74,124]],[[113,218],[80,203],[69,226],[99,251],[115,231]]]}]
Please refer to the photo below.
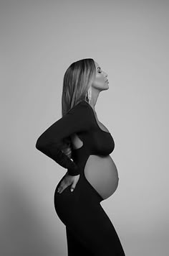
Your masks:
[{"label": "woman's hand with spread fingers resting on her hip, below the sleeve cuff", "polygon": [[71,185],[70,191],[72,192],[76,187],[78,180],[79,180],[79,174],[72,176],[72,175],[69,175],[67,172],[62,182],[59,184],[59,187],[57,188],[57,192],[62,193],[62,191],[64,191],[64,189],[67,188],[69,185]]}]

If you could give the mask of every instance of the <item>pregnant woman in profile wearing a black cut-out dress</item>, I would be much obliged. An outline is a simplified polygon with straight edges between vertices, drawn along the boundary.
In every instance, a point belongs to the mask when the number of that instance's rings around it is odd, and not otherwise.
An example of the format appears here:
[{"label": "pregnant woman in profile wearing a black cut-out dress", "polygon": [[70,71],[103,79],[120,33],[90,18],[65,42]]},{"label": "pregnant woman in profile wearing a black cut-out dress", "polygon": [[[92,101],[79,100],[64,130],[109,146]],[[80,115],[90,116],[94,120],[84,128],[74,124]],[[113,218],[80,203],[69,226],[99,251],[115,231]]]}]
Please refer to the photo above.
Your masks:
[{"label": "pregnant woman in profile wearing a black cut-out dress", "polygon": [[100,92],[108,88],[107,74],[93,59],[72,63],[64,74],[62,118],[36,143],[67,169],[55,189],[54,207],[66,227],[68,256],[125,256],[100,204],[119,181],[110,157],[115,142],[95,111]]}]

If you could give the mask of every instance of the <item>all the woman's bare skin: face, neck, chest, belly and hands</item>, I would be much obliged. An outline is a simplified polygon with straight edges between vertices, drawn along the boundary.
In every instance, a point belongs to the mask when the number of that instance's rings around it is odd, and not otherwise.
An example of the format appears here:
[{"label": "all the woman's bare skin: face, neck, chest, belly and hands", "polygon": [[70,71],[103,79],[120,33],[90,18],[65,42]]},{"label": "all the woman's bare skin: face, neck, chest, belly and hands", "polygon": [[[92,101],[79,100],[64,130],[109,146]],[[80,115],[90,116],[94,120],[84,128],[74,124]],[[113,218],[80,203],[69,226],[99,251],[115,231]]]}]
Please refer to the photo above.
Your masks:
[{"label": "all the woman's bare skin: face, neck, chest, belly and hands", "polygon": [[[99,125],[100,129],[105,132],[109,132],[107,128],[97,119],[97,113],[95,111],[95,104],[100,92],[109,88],[107,83],[107,73],[102,71],[96,62],[95,67],[96,77],[95,81],[92,83],[92,98],[90,100],[90,106],[92,106],[97,124]],[[79,139],[77,134],[72,135],[72,145],[74,150],[79,149],[83,145],[83,142]],[[65,150],[64,153],[71,157],[70,148]],[[102,170],[104,170],[104,172]],[[111,196],[118,186],[119,178],[117,168],[110,155],[104,157],[99,155],[90,155],[84,167],[84,175],[90,184],[95,188],[95,190],[97,190],[97,192],[100,193],[104,199]],[[78,180],[79,175],[71,176],[66,174],[58,188],[58,192],[62,193],[62,191],[64,191],[64,189],[69,185],[71,185],[71,188],[74,189]]]}]

